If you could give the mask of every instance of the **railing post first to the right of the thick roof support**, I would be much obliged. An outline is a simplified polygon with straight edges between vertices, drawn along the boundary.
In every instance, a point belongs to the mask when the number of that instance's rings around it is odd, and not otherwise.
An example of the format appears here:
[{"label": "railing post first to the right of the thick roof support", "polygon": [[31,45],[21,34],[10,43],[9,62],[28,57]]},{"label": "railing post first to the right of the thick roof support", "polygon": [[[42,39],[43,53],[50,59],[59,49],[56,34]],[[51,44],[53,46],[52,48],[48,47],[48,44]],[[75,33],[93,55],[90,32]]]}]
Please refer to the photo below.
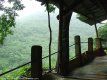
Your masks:
[{"label": "railing post first to the right of the thick roof support", "polygon": [[79,64],[82,65],[82,56],[81,56],[81,44],[80,36],[75,36],[75,56],[79,60]]}]

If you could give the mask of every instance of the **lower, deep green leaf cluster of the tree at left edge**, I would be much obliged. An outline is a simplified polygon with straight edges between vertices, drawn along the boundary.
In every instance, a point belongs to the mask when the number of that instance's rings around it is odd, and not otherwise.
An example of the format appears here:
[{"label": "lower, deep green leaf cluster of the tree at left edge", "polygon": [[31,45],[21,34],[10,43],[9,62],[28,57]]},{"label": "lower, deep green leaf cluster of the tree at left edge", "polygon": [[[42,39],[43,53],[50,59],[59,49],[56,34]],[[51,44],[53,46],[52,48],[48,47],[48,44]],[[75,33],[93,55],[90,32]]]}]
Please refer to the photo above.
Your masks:
[{"label": "lower, deep green leaf cluster of the tree at left edge", "polygon": [[15,27],[15,18],[12,15],[1,15],[0,17],[0,43],[3,44],[8,34],[13,34],[11,27]]}]

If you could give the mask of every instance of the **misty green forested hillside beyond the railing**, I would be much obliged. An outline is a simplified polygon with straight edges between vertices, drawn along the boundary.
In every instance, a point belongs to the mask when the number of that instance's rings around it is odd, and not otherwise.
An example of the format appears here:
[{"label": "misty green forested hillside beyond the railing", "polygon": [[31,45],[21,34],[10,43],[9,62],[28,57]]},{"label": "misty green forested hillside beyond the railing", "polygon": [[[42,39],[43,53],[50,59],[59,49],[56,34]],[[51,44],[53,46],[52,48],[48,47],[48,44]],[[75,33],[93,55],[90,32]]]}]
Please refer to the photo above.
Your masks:
[{"label": "misty green forested hillside beyond the railing", "polygon": [[[58,11],[51,13],[51,27],[53,33],[52,53],[57,51],[58,46]],[[31,46],[41,45],[43,56],[48,55],[49,29],[47,24],[47,13],[32,13],[28,16],[16,18],[16,28],[13,35],[9,35],[4,44],[0,46],[0,73],[30,61]],[[95,29],[76,19],[74,13],[70,24],[70,45],[74,43],[74,36],[80,35],[82,42],[87,42],[88,37],[95,37]],[[87,44],[82,45],[83,51],[87,50]],[[83,52],[82,51],[82,52]],[[70,55],[74,56],[74,47],[70,48]],[[52,57],[55,66],[56,56]],[[48,59],[43,62],[48,67]]]}]

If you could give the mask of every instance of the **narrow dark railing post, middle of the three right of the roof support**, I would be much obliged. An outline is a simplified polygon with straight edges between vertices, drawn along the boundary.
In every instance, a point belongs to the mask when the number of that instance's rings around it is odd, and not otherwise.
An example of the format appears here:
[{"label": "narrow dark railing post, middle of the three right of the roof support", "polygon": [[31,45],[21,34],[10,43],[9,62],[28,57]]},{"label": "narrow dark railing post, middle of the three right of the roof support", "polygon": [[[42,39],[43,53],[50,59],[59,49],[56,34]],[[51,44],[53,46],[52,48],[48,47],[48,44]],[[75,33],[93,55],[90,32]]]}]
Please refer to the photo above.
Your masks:
[{"label": "narrow dark railing post, middle of the three right of the roof support", "polygon": [[92,60],[94,58],[93,54],[93,39],[88,38],[88,58]]}]

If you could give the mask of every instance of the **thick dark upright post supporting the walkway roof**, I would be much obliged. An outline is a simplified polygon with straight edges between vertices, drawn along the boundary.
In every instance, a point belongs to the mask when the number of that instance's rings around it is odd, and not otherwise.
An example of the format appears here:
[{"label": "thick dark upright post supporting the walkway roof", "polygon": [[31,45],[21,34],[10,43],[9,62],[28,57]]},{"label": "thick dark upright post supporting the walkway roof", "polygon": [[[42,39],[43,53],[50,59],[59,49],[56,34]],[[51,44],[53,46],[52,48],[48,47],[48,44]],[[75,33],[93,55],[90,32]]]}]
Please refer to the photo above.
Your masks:
[{"label": "thick dark upright post supporting the walkway roof", "polygon": [[64,16],[63,10],[63,0],[60,0],[57,72],[66,76],[69,74],[69,23],[72,14]]}]

